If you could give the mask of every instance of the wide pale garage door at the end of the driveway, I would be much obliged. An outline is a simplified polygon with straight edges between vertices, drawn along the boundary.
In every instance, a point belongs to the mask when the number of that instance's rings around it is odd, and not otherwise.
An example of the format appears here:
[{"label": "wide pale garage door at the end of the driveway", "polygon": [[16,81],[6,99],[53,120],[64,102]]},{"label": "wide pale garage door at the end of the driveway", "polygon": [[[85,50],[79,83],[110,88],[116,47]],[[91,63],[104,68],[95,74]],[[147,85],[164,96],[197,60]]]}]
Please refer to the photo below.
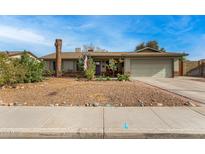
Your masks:
[{"label": "wide pale garage door at the end of the driveway", "polygon": [[132,77],[172,77],[171,60],[131,60]]}]

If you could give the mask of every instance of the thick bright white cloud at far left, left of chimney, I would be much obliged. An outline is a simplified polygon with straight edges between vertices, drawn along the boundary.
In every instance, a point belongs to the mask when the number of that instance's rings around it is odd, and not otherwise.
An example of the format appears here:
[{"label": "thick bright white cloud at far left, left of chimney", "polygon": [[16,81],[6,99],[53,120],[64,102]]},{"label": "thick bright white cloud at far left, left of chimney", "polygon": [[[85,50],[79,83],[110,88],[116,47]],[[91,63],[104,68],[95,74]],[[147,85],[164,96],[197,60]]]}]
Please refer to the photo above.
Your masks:
[{"label": "thick bright white cloud at far left, left of chimney", "polygon": [[40,44],[50,46],[46,38],[28,29],[0,25],[0,39],[4,41],[20,41],[29,44]]}]

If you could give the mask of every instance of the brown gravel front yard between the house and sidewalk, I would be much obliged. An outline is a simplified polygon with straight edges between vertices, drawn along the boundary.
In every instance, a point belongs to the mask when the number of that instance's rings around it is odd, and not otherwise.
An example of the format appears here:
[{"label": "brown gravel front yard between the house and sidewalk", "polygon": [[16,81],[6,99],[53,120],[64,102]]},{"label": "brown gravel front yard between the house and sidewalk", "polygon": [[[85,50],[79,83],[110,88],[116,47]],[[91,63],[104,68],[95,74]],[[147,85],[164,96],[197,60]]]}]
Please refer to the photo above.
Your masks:
[{"label": "brown gravel front yard between the house and sidewalk", "polygon": [[190,106],[193,101],[139,81],[44,82],[1,87],[0,105],[27,106]]}]

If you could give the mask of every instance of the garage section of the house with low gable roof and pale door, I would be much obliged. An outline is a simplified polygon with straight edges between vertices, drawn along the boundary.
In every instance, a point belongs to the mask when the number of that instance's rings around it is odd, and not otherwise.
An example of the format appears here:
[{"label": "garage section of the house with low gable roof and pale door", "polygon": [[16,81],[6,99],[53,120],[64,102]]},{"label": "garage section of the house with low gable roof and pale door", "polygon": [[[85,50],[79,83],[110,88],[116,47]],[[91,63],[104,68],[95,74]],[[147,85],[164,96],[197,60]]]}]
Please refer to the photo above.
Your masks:
[{"label": "garage section of the house with low gable roof and pale door", "polygon": [[187,55],[145,47],[124,54],[124,72],[130,73],[131,77],[171,78],[180,75],[180,60]]}]

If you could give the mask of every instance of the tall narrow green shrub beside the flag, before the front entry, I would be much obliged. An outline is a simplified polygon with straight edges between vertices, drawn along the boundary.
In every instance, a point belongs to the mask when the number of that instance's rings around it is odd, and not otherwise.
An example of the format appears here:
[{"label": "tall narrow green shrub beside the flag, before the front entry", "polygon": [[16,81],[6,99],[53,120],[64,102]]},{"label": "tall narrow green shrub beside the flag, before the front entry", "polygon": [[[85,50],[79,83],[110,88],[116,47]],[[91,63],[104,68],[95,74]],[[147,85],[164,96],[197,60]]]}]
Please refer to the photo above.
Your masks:
[{"label": "tall narrow green shrub beside the flag, before the front entry", "polygon": [[88,80],[92,80],[95,77],[95,63],[92,58],[88,58],[88,66],[85,70],[85,76]]}]

